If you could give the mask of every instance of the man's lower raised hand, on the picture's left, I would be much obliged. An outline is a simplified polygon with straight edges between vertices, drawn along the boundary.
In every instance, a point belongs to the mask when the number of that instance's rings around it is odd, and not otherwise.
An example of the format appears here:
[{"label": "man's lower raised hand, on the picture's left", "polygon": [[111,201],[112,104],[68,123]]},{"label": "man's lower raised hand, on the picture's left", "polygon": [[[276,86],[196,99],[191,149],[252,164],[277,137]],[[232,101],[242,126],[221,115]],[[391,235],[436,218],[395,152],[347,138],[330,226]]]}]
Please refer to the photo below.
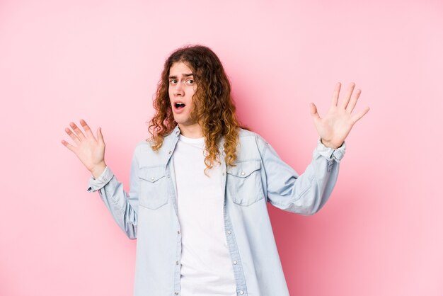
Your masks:
[{"label": "man's lower raised hand, on the picture's left", "polygon": [[81,126],[84,128],[85,134],[77,127],[75,123],[70,123],[72,130],[68,127],[64,129],[65,132],[71,137],[75,145],[71,145],[65,140],[62,140],[67,149],[74,152],[86,169],[91,171],[94,178],[98,178],[106,167],[105,164],[105,141],[101,133],[101,127],[97,129],[97,140],[94,137],[91,128],[85,120],[80,120]]}]

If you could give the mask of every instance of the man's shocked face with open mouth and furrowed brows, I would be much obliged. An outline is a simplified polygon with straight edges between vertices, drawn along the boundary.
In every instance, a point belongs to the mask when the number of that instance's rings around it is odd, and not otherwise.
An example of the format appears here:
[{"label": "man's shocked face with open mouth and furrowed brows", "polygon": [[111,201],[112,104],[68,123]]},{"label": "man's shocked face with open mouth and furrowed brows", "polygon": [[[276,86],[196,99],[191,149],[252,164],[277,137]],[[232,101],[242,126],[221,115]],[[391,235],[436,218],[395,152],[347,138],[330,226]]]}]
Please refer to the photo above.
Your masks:
[{"label": "man's shocked face with open mouth and furrowed brows", "polygon": [[197,89],[191,69],[183,62],[175,62],[169,69],[169,99],[174,120],[180,127],[195,125],[190,118],[192,96]]}]

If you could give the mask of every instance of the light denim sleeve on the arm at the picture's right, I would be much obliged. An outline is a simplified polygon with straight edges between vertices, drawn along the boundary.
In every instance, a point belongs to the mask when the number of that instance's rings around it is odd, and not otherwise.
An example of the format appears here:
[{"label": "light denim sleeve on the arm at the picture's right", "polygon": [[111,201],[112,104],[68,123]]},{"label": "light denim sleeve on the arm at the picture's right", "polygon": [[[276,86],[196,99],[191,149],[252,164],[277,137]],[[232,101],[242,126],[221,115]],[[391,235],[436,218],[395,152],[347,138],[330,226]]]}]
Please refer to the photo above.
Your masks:
[{"label": "light denim sleeve on the arm at the picture's right", "polygon": [[318,139],[311,163],[299,175],[266,143],[262,157],[267,200],[288,212],[301,215],[318,212],[332,193],[345,149],[345,143],[338,149],[333,149],[326,147]]}]

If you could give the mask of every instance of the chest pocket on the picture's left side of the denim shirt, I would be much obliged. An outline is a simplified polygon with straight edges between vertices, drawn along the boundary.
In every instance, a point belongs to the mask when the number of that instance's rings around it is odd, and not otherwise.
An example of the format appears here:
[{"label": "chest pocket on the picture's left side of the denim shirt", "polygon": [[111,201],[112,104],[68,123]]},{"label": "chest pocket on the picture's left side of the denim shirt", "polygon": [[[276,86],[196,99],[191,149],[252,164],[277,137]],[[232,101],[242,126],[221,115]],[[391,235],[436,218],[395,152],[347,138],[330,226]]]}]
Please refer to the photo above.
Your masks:
[{"label": "chest pocket on the picture's left side of the denim shirt", "polygon": [[163,166],[139,169],[139,205],[156,210],[168,203],[168,183]]}]

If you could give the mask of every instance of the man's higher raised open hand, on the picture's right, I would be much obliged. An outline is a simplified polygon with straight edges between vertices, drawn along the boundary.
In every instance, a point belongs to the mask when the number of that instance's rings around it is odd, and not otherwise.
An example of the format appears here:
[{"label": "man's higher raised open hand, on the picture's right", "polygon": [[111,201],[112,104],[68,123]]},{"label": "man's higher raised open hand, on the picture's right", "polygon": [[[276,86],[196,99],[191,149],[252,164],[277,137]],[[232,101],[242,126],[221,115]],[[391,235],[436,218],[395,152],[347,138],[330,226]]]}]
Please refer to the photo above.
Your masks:
[{"label": "man's higher raised open hand, on the picture's right", "polygon": [[357,89],[354,96],[352,96],[352,91],[354,91],[355,87],[354,83],[350,84],[343,102],[338,106],[340,86],[340,82],[335,85],[333,99],[325,117],[321,118],[318,115],[317,107],[314,103],[311,103],[311,116],[316,125],[318,135],[321,137],[321,142],[326,147],[333,149],[337,149],[343,144],[354,124],[369,111],[369,107],[366,107],[359,113],[352,115],[352,110],[354,110],[358,97],[362,93],[362,91]]}]

